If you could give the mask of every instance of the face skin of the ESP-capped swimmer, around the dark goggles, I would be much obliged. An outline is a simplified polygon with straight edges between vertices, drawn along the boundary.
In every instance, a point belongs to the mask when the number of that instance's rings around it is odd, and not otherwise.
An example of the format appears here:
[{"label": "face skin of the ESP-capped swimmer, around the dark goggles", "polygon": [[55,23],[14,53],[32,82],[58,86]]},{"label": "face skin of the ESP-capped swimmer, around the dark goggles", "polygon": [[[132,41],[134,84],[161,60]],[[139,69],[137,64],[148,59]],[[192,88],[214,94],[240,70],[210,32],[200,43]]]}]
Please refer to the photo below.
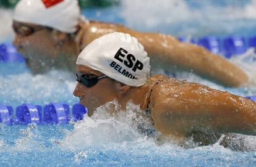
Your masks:
[{"label": "face skin of the ESP-capped swimmer, around the dark goggles", "polygon": [[[77,65],[77,72],[79,74],[92,74],[95,76],[103,75],[100,71],[93,70],[84,65]],[[98,80],[98,83],[90,88],[87,88],[87,86],[84,86],[82,83],[77,83],[73,94],[80,98],[80,104],[88,108],[88,116],[92,116],[93,111],[95,111],[97,107],[111,102],[114,99],[118,100],[119,88],[119,82],[107,77]]]}]

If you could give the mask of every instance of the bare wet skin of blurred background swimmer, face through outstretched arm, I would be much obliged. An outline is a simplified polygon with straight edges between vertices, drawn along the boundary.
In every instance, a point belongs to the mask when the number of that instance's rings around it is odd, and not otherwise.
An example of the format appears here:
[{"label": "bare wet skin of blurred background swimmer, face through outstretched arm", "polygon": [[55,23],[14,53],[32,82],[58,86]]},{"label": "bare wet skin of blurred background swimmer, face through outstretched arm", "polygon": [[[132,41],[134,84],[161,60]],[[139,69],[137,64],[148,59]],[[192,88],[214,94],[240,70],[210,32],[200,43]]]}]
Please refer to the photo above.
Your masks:
[{"label": "bare wet skin of blurred background swimmer, face through outstretched arm", "polygon": [[[248,84],[249,78],[244,71],[203,47],[181,43],[173,36],[160,33],[143,33],[111,23],[96,21],[81,23],[75,38],[68,40],[64,38],[64,33],[57,30],[54,31],[55,33],[41,30],[30,36],[16,35],[14,44],[23,54],[27,55],[28,67],[34,73],[49,70],[47,68],[74,71],[73,64],[79,52],[94,39],[114,31],[129,33],[137,38],[150,57],[152,68],[193,70],[194,73],[224,86],[245,86]],[[47,64],[47,67],[41,65],[41,62]]]}]

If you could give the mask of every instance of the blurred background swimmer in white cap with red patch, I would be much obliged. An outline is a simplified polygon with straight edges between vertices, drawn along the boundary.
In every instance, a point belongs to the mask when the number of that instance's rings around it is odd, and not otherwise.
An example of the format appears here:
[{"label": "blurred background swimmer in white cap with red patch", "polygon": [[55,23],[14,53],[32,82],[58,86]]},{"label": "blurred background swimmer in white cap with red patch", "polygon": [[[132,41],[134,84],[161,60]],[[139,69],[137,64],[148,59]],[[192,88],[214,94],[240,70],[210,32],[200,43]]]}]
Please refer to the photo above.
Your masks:
[{"label": "blurred background swimmer in white cap with red patch", "polygon": [[20,0],[14,10],[14,44],[33,73],[52,68],[75,71],[77,54],[93,39],[114,31],[135,36],[152,68],[182,69],[224,86],[244,86],[249,78],[223,57],[173,36],[143,33],[122,25],[81,19],[77,0]]}]

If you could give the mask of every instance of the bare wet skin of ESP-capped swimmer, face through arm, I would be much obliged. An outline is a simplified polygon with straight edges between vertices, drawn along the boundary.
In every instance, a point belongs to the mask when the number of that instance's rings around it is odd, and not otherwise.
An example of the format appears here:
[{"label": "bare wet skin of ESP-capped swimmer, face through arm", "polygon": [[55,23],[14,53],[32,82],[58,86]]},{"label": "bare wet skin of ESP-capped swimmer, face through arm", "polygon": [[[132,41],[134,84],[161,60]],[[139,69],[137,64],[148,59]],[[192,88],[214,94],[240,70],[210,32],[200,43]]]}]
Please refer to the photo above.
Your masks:
[{"label": "bare wet skin of ESP-capped swimmer, face through arm", "polygon": [[[77,71],[103,75],[84,65],[77,65]],[[132,100],[142,110],[148,108],[151,111],[155,128],[163,136],[171,136],[177,141],[198,132],[256,135],[255,102],[202,84],[178,81],[163,75],[151,76],[148,83],[140,87],[127,86],[111,78],[101,79],[92,88],[77,83],[74,96],[80,97],[80,103],[88,107],[89,116],[93,115],[97,107],[114,99],[123,108]]]}]

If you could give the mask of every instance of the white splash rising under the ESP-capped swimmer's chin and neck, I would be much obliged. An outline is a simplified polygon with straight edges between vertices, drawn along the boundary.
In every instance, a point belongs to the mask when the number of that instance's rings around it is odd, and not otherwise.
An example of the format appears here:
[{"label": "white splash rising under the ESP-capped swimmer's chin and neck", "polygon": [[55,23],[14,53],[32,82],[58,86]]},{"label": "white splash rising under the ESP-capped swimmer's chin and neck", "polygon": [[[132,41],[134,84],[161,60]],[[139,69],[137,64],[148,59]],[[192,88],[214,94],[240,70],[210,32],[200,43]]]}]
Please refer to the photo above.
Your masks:
[{"label": "white splash rising under the ESP-capped swimmer's chin and neck", "polygon": [[[118,112],[111,115],[113,105]],[[154,131],[150,118],[138,105],[129,102],[123,111],[113,101],[97,108],[91,118],[85,115],[82,121],[75,123],[74,130],[67,133],[62,145],[81,149],[95,144],[135,144],[147,141],[148,135],[156,135]]]}]

